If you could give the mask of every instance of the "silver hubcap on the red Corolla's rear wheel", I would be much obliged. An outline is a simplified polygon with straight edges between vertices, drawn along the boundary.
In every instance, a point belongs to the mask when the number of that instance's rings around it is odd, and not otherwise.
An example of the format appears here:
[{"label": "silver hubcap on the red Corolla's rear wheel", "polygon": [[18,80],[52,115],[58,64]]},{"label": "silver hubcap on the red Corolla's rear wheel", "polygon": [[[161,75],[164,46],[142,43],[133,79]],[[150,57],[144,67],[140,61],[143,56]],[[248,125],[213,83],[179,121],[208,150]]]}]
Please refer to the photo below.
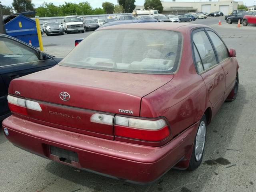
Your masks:
[{"label": "silver hubcap on the red Corolla's rear wheel", "polygon": [[199,125],[198,131],[196,134],[196,150],[195,150],[196,161],[199,161],[202,158],[202,154],[204,151],[204,144],[205,144],[205,135],[206,135],[206,126],[205,126],[205,123],[202,121]]}]

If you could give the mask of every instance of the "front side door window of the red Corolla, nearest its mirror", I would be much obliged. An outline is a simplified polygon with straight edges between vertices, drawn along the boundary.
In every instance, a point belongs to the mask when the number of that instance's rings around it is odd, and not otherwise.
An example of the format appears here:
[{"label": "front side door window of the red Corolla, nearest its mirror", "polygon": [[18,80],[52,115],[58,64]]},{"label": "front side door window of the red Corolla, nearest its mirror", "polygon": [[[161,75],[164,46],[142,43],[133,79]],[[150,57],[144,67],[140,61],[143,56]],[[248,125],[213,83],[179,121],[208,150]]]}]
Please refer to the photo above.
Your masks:
[{"label": "front side door window of the red Corolla, nearest its mirror", "polygon": [[212,31],[207,31],[207,32],[216,49],[218,60],[219,62],[222,62],[223,60],[229,57],[228,49],[226,48],[225,44],[222,42],[222,40],[218,37],[216,33]]}]

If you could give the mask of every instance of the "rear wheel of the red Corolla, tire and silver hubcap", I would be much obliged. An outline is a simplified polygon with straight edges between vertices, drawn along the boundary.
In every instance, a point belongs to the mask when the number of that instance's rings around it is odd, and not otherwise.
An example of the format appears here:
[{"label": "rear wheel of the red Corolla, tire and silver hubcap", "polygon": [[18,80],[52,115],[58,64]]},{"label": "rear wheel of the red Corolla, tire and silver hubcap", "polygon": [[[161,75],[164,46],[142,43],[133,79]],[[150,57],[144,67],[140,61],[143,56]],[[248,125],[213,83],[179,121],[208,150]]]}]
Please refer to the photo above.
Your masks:
[{"label": "rear wheel of the red Corolla, tire and silver hubcap", "polygon": [[[202,163],[205,140],[206,140],[206,125],[207,125],[206,116],[203,115],[199,122],[198,130],[196,132],[193,151],[190,157],[189,166],[187,168],[188,170],[195,170]],[[196,144],[197,144],[197,147],[196,147]]]}]

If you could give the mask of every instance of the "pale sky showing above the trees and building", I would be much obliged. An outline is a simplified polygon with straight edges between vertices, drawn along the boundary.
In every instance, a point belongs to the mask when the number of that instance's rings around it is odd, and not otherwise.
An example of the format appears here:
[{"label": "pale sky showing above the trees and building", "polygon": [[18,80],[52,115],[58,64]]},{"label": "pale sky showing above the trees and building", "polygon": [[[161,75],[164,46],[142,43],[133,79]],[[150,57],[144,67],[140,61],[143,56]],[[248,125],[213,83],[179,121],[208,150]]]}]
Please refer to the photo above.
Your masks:
[{"label": "pale sky showing above the trees and building", "polygon": [[[11,5],[12,4],[12,0],[0,0],[2,2],[2,5]],[[36,7],[40,6],[42,3],[44,3],[44,1],[46,0],[32,0],[32,2],[35,4]],[[54,5],[58,6],[60,4],[63,4],[64,2],[72,2],[72,3],[79,3],[79,2],[84,2],[86,0],[51,0],[50,2],[52,2]],[[113,4],[117,4],[117,0],[87,0],[90,5],[93,8],[97,8],[97,7],[101,7],[103,2],[111,2]],[[172,0],[165,0],[165,1],[172,1]],[[206,1],[206,0],[176,0],[176,1],[180,1],[180,2],[194,2],[194,1]],[[212,0],[214,1],[214,0]],[[256,0],[238,0],[238,1],[243,1],[245,5],[247,6],[251,6],[256,4]],[[47,2],[47,1],[46,1]],[[136,5],[143,5],[144,4],[144,0],[136,0],[135,2]]]}]

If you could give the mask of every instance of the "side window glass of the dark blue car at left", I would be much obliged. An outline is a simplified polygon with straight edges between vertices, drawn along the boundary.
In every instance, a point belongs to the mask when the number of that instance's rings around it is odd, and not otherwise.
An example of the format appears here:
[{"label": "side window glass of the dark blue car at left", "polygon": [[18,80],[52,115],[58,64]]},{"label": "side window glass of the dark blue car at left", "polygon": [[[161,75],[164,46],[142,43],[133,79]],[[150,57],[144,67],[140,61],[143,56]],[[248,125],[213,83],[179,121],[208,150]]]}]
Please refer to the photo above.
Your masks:
[{"label": "side window glass of the dark blue car at left", "polygon": [[38,61],[36,52],[21,43],[0,38],[0,67]]}]

